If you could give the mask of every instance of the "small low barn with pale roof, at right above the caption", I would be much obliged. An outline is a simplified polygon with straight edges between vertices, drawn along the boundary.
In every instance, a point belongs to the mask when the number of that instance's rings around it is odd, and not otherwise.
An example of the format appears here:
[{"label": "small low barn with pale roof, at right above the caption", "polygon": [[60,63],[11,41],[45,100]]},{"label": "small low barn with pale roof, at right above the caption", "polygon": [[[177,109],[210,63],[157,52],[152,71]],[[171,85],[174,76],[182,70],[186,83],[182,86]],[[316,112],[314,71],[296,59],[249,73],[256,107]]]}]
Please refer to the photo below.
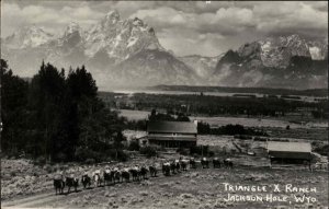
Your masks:
[{"label": "small low barn with pale roof, at right above the caption", "polygon": [[311,160],[311,147],[308,142],[269,141],[268,153],[271,163],[309,163]]}]

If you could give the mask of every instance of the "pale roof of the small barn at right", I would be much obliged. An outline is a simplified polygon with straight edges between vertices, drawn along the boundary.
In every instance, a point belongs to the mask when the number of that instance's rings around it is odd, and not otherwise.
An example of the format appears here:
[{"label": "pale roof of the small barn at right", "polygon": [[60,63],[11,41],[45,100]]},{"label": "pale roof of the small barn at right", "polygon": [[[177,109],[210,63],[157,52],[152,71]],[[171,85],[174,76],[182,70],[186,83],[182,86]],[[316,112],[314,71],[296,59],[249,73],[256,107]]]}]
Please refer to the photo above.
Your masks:
[{"label": "pale roof of the small barn at right", "polygon": [[279,152],[311,152],[310,143],[308,142],[281,142],[269,141],[268,150]]}]

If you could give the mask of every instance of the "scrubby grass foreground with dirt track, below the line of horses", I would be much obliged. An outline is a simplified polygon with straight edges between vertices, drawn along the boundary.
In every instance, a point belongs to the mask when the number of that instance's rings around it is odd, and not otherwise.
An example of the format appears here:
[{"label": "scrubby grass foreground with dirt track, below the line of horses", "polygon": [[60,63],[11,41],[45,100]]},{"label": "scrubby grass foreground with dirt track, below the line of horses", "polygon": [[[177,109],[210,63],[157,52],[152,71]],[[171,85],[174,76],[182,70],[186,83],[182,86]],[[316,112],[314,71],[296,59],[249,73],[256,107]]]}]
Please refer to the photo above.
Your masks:
[{"label": "scrubby grass foreground with dirt track, below the line of horses", "polygon": [[[13,163],[13,162],[11,162]],[[75,169],[75,167],[73,167]],[[36,186],[41,178],[34,183]],[[1,179],[2,181],[2,179]],[[47,178],[50,182],[50,178]],[[2,201],[2,207],[19,208],[328,208],[328,173],[307,170],[271,170],[265,167],[235,166],[227,169],[189,170],[169,177],[150,177],[143,182],[121,183],[69,195],[55,196],[52,186],[43,188],[42,194],[21,194],[14,200]],[[265,191],[228,190],[225,184],[232,186],[265,186]],[[280,191],[274,193],[274,184]],[[313,188],[302,193],[286,190],[286,185],[298,189]],[[1,190],[2,191],[2,190]],[[305,191],[305,190],[304,190]],[[276,200],[270,198],[274,195]],[[262,198],[260,201],[229,200],[228,196],[248,195]],[[296,202],[296,197],[311,197]],[[273,197],[273,196],[272,196]],[[25,199],[24,199],[25,198]],[[277,198],[285,201],[279,201]],[[272,201],[271,201],[272,200]]]}]

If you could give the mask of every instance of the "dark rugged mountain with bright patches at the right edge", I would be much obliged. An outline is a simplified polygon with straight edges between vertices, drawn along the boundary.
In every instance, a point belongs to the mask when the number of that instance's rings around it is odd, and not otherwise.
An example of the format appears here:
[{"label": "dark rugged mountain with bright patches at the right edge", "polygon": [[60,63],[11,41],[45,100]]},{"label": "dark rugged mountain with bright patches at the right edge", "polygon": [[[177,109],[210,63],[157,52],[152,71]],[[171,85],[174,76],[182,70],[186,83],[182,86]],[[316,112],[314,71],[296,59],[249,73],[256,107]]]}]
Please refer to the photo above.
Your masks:
[{"label": "dark rugged mountain with bright patches at the right edge", "polygon": [[310,45],[298,35],[269,37],[227,51],[212,81],[231,86],[327,88],[327,68],[325,42]]}]

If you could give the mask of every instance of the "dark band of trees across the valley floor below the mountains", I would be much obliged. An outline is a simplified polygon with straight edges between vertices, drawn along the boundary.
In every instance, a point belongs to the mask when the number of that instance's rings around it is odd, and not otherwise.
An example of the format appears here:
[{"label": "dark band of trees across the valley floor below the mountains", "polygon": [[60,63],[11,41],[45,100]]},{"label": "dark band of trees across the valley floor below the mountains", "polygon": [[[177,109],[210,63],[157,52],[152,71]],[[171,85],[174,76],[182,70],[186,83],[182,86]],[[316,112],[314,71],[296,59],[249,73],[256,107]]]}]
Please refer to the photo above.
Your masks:
[{"label": "dark band of trees across the valley floor below the mountains", "polygon": [[[115,100],[115,98],[113,98]],[[158,108],[167,112],[181,112],[184,114],[217,115],[246,115],[246,116],[285,116],[297,113],[298,108],[310,108],[315,118],[328,116],[328,102],[307,103],[304,101],[287,101],[277,97],[234,97],[211,95],[161,95],[136,93],[129,97],[134,109]],[[114,106],[114,102],[106,103]],[[117,106],[116,106],[117,107]],[[117,108],[126,108],[124,104]],[[303,114],[303,113],[300,113]]]}]

